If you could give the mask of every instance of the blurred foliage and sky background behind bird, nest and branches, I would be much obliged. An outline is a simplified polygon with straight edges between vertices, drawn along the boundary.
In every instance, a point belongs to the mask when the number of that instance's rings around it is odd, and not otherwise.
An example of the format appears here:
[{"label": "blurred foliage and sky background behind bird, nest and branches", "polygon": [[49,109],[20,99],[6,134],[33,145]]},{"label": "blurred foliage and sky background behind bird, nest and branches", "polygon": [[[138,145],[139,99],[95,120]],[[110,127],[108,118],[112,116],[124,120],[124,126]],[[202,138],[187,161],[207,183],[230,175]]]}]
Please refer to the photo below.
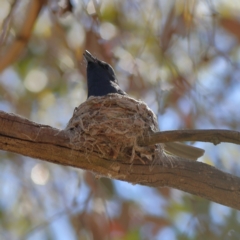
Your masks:
[{"label": "blurred foliage and sky background behind bird, nest and branches", "polygon": [[[161,130],[240,130],[239,0],[0,0],[0,110],[63,129],[87,97],[85,49]],[[1,127],[1,126],[0,126]],[[240,175],[240,148],[200,161]],[[0,152],[0,239],[240,239],[240,213]]]}]

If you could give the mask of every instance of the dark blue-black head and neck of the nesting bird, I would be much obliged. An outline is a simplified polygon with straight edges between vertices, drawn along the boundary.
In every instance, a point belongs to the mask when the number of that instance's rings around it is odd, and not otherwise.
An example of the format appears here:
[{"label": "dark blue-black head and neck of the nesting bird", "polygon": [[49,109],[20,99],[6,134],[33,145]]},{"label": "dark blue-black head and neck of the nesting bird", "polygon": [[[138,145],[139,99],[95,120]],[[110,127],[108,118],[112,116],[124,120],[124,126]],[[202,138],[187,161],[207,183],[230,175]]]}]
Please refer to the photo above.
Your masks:
[{"label": "dark blue-black head and neck of the nesting bird", "polygon": [[109,64],[93,57],[87,50],[83,56],[87,61],[88,98],[109,93],[126,95],[119,87],[115,72]]}]

